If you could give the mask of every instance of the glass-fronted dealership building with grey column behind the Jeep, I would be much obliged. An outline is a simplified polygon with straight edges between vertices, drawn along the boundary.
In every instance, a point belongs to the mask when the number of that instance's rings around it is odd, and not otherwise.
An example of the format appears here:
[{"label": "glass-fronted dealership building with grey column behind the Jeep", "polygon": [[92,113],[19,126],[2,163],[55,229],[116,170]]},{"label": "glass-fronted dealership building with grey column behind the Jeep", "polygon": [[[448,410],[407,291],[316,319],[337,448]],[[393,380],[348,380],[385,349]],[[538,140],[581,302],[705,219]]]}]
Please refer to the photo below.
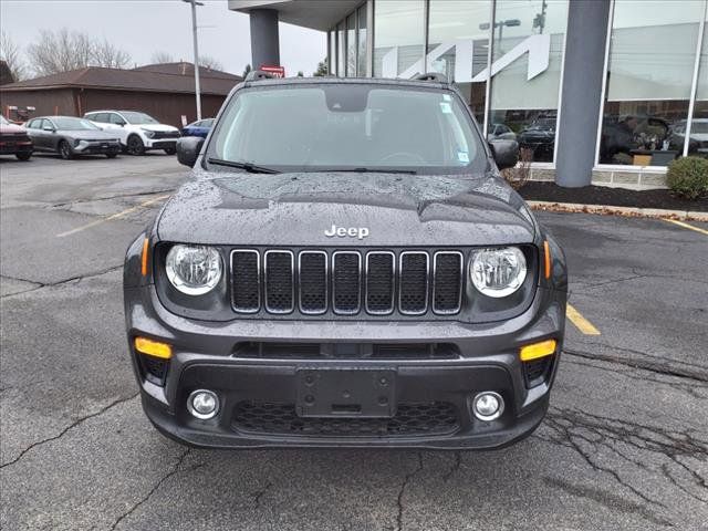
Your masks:
[{"label": "glass-fronted dealership building with grey column behind the Jeep", "polygon": [[708,0],[230,0],[253,64],[280,64],[278,22],[325,31],[330,73],[454,81],[533,178],[665,185],[708,157]]}]

